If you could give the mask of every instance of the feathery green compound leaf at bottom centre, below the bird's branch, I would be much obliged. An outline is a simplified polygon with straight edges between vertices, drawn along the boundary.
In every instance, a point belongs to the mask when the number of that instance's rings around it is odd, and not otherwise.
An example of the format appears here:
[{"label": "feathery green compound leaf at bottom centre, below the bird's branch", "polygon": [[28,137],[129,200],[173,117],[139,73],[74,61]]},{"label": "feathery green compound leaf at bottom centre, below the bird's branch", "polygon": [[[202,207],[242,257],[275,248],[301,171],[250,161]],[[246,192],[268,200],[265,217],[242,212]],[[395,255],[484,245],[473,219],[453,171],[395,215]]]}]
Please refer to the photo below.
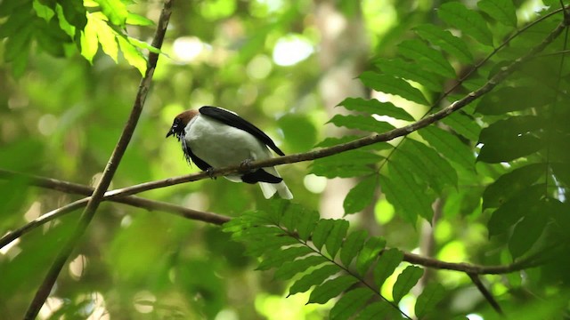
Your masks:
[{"label": "feathery green compound leaf at bottom centre, below the bird's branch", "polygon": [[[227,222],[224,231],[247,247],[264,243],[264,250],[248,254],[260,258],[258,269],[276,268],[275,278],[296,279],[289,288],[289,295],[306,292],[314,286],[307,303],[323,304],[340,296],[330,309],[330,318],[391,315],[399,310],[396,303],[411,291],[423,274],[418,267],[404,269],[394,286],[394,302],[388,301],[381,295],[380,287],[402,262],[402,252],[384,251],[386,240],[375,236],[366,239],[363,231],[347,234],[346,220],[314,220],[316,212],[307,212],[299,204],[274,200],[272,209],[271,212],[247,212]],[[296,219],[291,220],[291,215]],[[299,230],[306,230],[306,226],[312,226],[313,231],[308,238],[302,238]],[[272,238],[291,241],[273,241]],[[335,259],[337,256],[340,260]],[[303,276],[296,277],[297,274]],[[364,280],[369,274],[373,274],[373,284]],[[441,290],[441,287],[430,287],[425,299],[436,302],[442,295]],[[427,306],[420,307],[425,309],[422,312],[428,312]]]}]

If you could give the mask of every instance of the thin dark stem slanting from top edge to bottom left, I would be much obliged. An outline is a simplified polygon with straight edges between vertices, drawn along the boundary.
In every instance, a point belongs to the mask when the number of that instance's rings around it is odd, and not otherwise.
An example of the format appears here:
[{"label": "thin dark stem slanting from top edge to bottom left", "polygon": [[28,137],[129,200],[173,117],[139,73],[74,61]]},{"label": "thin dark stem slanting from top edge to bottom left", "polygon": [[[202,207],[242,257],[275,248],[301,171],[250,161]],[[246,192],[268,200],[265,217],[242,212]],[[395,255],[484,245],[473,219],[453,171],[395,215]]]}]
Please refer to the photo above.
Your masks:
[{"label": "thin dark stem slanting from top edge to bottom left", "polygon": [[[171,0],[166,0],[163,6],[162,12],[160,13],[159,18],[159,25],[157,27],[154,39],[152,40],[152,46],[155,48],[160,49],[162,47],[162,43],[164,40],[164,36],[167,32],[167,25],[168,20],[170,19],[171,13]],[[79,218],[77,223],[77,228],[74,230],[73,234],[69,237],[68,241],[63,244],[61,251],[56,256],[55,260],[51,268],[49,268],[47,275],[44,278],[42,284],[40,284],[39,288],[37,289],[36,295],[34,299],[31,301],[26,315],[24,316],[25,319],[35,319],[37,314],[39,313],[40,308],[45,303],[48,295],[52,291],[53,284],[55,284],[55,280],[59,276],[61,272],[61,268],[65,262],[69,259],[69,255],[75,248],[75,244],[77,244],[78,240],[83,236],[85,233],[86,228],[89,226],[91,220],[93,220],[94,214],[97,211],[99,204],[102,201],[102,197],[107,191],[107,188],[110,186],[110,181],[113,179],[115,172],[117,171],[118,164],[121,161],[121,158],[125,154],[126,147],[133,136],[134,128],[138,123],[138,119],[142,113],[142,107],[144,106],[144,101],[146,100],[147,93],[149,92],[149,88],[151,86],[152,76],[154,74],[154,69],[156,68],[157,61],[159,60],[159,54],[155,52],[149,53],[149,62],[147,65],[147,69],[145,72],[144,77],[139,84],[139,90],[136,94],[136,98],[134,100],[134,106],[131,110],[131,114],[126,122],[125,128],[121,133],[121,136],[118,140],[117,146],[113,150],[112,155],[110,156],[109,162],[105,167],[105,170],[102,174],[102,178],[97,184],[97,187],[94,189],[93,196],[88,200],[87,206],[85,207],[85,211]]]}]

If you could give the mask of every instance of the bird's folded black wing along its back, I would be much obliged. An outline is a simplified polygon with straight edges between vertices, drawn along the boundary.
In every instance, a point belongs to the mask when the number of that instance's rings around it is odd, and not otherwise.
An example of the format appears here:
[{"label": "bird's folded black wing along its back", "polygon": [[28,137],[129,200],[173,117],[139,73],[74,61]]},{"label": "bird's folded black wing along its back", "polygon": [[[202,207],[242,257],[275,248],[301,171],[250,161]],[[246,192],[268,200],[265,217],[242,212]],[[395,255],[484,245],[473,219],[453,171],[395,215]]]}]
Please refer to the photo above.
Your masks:
[{"label": "bird's folded black wing along its back", "polygon": [[267,145],[267,147],[272,148],[273,151],[275,151],[278,155],[285,156],[283,151],[281,151],[280,148],[277,148],[277,146],[275,146],[275,142],[273,142],[273,140],[271,140],[271,138],[269,138],[269,136],[265,134],[265,132],[262,132],[255,125],[249,123],[247,120],[242,119],[240,116],[233,114],[228,110],[224,110],[223,108],[208,107],[208,106],[199,108],[199,113],[204,116],[210,116],[224,124],[231,125],[234,128],[238,128],[240,130],[248,132],[257,139],[263,141]]}]

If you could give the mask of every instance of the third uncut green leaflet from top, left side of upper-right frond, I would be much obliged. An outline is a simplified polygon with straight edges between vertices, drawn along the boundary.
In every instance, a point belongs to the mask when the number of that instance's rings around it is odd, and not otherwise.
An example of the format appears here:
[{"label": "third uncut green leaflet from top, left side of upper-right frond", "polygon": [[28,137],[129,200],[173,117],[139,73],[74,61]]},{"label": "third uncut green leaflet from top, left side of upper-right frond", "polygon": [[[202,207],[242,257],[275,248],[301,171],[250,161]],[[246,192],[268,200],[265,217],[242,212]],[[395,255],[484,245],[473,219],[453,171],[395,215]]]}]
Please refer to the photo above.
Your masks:
[{"label": "third uncut green leaflet from top, left side of upper-right frond", "polygon": [[455,78],[456,76],[455,69],[444,58],[442,52],[438,52],[421,40],[403,41],[401,44],[398,44],[398,52],[406,58],[415,60],[419,66],[433,71],[439,76],[444,76],[444,78]]}]

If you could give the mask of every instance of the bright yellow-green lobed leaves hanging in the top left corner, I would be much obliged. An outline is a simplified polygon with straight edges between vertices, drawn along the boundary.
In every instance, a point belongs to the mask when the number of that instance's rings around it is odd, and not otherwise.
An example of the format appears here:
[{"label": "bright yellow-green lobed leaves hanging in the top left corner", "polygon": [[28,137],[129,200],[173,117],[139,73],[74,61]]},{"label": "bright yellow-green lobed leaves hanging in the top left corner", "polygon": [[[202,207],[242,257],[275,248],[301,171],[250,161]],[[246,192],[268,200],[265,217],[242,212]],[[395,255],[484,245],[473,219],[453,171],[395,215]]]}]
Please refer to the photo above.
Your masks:
[{"label": "bright yellow-green lobed leaves hanging in the top left corner", "polygon": [[12,73],[16,77],[25,71],[34,41],[55,57],[69,56],[75,44],[89,62],[93,62],[100,44],[103,52],[117,62],[120,47],[126,61],[141,74],[146,69],[146,60],[140,49],[156,51],[126,34],[127,24],[148,26],[152,22],[128,12],[126,4],[119,0],[85,4],[74,0],[7,3],[0,4],[0,17],[9,17],[0,23],[0,39],[7,38],[4,61],[12,62]]}]

